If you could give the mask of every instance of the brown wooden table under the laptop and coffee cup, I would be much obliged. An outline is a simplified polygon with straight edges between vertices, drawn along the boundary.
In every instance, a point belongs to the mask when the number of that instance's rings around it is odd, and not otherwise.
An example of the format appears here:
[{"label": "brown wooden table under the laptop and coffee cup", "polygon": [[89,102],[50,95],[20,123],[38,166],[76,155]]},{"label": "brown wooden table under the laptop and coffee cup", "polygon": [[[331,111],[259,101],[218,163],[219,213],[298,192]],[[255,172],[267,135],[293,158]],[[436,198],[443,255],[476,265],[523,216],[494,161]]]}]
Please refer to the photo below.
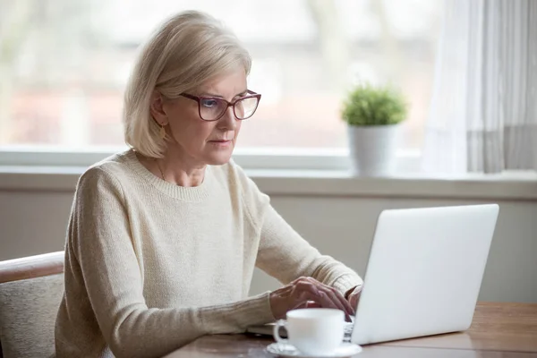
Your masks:
[{"label": "brown wooden table under the laptop and coffee cup", "polygon": [[[201,337],[166,358],[274,357],[265,351],[269,337]],[[479,303],[465,332],[364,345],[363,358],[537,357],[537,304]]]}]

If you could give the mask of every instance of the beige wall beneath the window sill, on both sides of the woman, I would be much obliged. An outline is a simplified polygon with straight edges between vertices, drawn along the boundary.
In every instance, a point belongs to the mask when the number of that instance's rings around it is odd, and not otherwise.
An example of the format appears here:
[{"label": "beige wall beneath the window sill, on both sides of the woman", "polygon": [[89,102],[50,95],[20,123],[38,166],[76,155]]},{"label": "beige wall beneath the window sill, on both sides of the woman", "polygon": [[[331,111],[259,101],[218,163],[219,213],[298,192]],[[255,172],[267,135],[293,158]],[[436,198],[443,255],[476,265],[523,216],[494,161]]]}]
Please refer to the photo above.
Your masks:
[{"label": "beige wall beneath the window sill, on both sides of the woman", "polygon": [[[524,200],[524,195],[509,199],[503,194],[496,195],[499,198],[495,200],[450,199],[446,192],[435,197],[434,192],[441,191],[434,188],[426,196],[417,189],[415,195],[368,194],[375,192],[372,189],[349,195],[326,190],[303,191],[299,195],[289,190],[294,183],[277,183],[270,178],[256,181],[271,194],[273,205],[299,233],[320,251],[360,274],[365,271],[375,222],[382,209],[499,202],[499,222],[480,299],[537,303],[537,200]],[[281,185],[281,190],[277,190],[277,185]],[[367,187],[368,183],[364,185]],[[0,181],[0,260],[63,249],[72,190],[52,187],[39,189],[36,184],[33,188],[18,188],[10,184],[6,188]],[[387,192],[395,190],[390,188]],[[274,279],[256,272],[251,293],[275,287]]]}]

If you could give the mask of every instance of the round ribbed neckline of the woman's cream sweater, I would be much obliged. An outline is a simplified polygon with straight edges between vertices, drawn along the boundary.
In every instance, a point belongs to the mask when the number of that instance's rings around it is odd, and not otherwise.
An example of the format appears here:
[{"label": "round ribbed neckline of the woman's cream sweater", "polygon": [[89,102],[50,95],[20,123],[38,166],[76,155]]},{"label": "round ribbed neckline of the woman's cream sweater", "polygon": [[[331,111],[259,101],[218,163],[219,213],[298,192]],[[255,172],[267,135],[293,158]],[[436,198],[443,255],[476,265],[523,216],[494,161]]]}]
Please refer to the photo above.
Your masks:
[{"label": "round ribbed neckline of the woman's cream sweater", "polygon": [[172,198],[184,201],[201,201],[209,197],[209,187],[214,181],[210,166],[206,166],[203,182],[201,182],[200,185],[186,187],[168,183],[157,175],[151,173],[148,168],[141,164],[140,160],[138,160],[138,157],[136,157],[136,152],[133,149],[129,149],[125,153],[125,158],[127,159],[127,163],[129,166],[131,166],[132,170],[137,175],[140,175],[145,181],[149,182],[156,189],[158,189],[159,192],[163,192]]}]

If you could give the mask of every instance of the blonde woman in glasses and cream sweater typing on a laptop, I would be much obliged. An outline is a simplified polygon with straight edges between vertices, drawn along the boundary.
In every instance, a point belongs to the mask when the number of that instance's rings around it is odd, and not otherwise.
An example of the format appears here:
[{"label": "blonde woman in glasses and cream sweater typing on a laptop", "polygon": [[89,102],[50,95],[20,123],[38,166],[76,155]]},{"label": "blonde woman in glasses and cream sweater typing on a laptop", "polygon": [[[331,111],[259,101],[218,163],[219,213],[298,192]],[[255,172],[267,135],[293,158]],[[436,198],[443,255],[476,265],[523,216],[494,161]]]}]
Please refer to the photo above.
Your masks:
[{"label": "blonde woman in glasses and cream sweater typing on a laptop", "polygon": [[[176,15],[143,47],[124,100],[132,149],[77,185],[57,356],[162,356],[310,303],[353,313],[362,279],[295,233],[230,159],[260,101],[250,66],[203,13]],[[286,286],[248,297],[256,266]]]}]

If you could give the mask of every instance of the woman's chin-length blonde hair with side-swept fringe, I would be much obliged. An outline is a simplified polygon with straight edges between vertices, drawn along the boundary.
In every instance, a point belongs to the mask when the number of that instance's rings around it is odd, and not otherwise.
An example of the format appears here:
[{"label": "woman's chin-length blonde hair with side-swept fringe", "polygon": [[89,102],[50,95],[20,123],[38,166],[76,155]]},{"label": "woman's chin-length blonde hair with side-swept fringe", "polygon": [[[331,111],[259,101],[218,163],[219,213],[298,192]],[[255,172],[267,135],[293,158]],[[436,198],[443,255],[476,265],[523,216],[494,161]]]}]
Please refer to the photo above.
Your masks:
[{"label": "woman's chin-length blonde hair with side-swept fringe", "polygon": [[150,114],[153,92],[165,98],[196,90],[200,84],[242,65],[251,56],[238,38],[206,13],[178,13],[164,22],[141,48],[124,94],[125,142],[143,156],[162,158],[166,141]]}]

